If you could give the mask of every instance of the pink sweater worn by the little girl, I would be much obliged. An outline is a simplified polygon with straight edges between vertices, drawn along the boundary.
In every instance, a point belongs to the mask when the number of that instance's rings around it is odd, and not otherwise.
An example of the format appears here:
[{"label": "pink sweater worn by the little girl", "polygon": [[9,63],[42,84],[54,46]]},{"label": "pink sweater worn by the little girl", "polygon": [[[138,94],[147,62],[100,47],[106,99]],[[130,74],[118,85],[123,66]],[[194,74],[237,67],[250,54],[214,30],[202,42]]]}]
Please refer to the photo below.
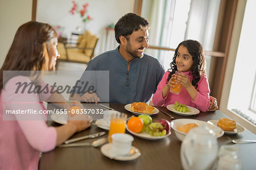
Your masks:
[{"label": "pink sweater worn by the little girl", "polygon": [[[183,72],[187,74],[189,80],[192,80],[192,76],[189,76],[189,72]],[[209,99],[209,84],[207,80],[207,76],[204,74],[201,76],[197,87],[197,94],[195,101],[192,100],[192,98],[189,96],[187,90],[182,87],[180,94],[173,94],[171,92],[168,92],[167,96],[163,98],[162,96],[162,89],[166,85],[166,80],[168,78],[169,72],[167,71],[164,73],[162,80],[160,81],[158,85],[158,89],[156,90],[152,102],[155,106],[167,106],[167,105],[174,105],[175,101],[179,103],[183,103],[187,106],[195,107],[201,111],[207,111],[210,106],[210,99]]]}]

